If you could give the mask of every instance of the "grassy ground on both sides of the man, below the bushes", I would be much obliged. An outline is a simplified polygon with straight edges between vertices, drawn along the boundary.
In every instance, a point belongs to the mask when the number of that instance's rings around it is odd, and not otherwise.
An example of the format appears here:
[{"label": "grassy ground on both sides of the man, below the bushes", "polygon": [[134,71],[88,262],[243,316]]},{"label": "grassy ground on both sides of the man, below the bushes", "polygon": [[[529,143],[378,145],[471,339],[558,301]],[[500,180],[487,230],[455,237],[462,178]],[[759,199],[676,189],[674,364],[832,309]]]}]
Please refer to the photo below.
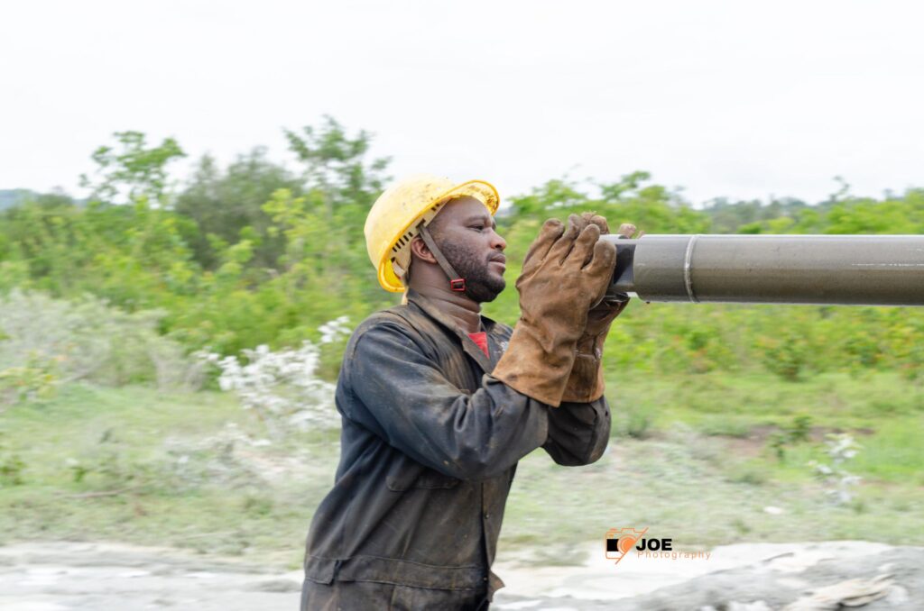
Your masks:
[{"label": "grassy ground on both sides of the man, below the bushes", "polygon": [[[543,562],[574,561],[616,526],[650,526],[685,548],[832,538],[920,545],[924,397],[899,379],[611,380],[616,420],[639,403],[657,404],[645,438],[616,430],[602,460],[580,469],[531,454],[517,471],[502,545],[541,548]],[[710,397],[725,398],[724,413]],[[887,419],[883,397],[899,405]],[[798,424],[803,416],[808,429]],[[74,384],[8,410],[0,423],[6,541],[117,539],[297,567],[338,458],[335,431],[262,445],[256,415],[211,391]],[[787,442],[781,461],[772,436],[793,430],[804,435]],[[828,501],[808,467],[821,460],[829,431],[849,432],[862,447],[849,469],[863,483],[845,506]]]}]

